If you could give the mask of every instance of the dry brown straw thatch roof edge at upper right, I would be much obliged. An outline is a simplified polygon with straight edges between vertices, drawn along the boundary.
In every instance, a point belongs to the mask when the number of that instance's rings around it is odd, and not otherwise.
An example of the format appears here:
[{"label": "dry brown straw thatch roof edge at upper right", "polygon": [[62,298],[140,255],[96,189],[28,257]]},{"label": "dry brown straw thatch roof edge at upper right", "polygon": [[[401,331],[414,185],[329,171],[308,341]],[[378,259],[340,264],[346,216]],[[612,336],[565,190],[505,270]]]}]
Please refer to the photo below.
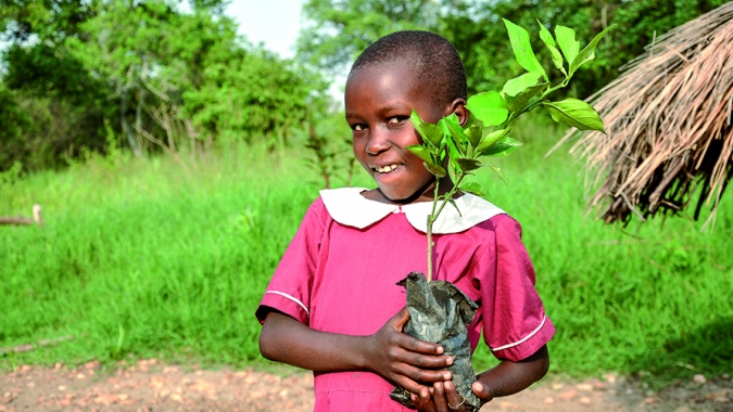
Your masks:
[{"label": "dry brown straw thatch roof edge at upper right", "polygon": [[712,219],[733,175],[733,2],[657,38],[590,102],[607,134],[585,134],[571,153],[598,188],[591,208],[628,222],[696,197],[695,219],[704,205]]}]

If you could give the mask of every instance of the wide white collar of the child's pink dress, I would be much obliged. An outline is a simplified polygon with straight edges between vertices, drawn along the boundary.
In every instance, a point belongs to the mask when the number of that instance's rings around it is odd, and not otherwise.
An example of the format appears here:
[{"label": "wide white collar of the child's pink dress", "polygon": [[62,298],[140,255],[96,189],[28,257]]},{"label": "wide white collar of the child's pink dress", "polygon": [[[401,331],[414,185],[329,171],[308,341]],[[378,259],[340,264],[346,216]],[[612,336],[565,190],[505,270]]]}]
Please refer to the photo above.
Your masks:
[{"label": "wide white collar of the child's pink dress", "polygon": [[[428,215],[432,209],[432,202],[418,202],[408,205],[391,205],[370,201],[362,196],[365,188],[325,189],[320,191],[320,198],[326,205],[328,214],[337,222],[357,229],[364,229],[384,219],[389,214],[403,213],[413,228],[427,232]],[[446,205],[433,223],[433,233],[458,233],[486,221],[505,211],[479,196],[466,193],[455,199],[458,210]]]}]

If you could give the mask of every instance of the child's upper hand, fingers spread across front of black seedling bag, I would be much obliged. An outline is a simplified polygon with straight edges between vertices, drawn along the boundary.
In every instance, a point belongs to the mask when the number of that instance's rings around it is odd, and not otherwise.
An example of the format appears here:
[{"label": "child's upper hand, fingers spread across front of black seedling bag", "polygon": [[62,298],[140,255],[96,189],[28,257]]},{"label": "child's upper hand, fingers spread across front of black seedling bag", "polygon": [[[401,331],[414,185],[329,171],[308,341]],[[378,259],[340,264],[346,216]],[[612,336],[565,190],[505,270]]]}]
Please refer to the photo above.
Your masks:
[{"label": "child's upper hand, fingers spread across front of black seedling bag", "polygon": [[415,394],[428,390],[420,383],[450,381],[451,372],[434,369],[447,368],[453,359],[442,355],[440,345],[403,334],[408,320],[409,312],[404,308],[369,336],[366,358],[369,369]]}]

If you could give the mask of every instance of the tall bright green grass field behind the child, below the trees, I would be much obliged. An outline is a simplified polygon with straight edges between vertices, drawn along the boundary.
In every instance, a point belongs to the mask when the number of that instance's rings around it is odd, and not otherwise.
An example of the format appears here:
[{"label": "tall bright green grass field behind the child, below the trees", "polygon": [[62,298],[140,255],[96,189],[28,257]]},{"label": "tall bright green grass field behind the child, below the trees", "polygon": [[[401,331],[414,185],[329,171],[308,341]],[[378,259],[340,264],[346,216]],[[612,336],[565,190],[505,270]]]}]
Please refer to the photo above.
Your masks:
[{"label": "tall bright green grass field behind the child, below the trees", "polygon": [[[629,228],[584,217],[580,166],[542,155],[558,131],[481,176],[517,218],[558,332],[552,369],[656,376],[733,372],[733,199],[713,231],[685,218]],[[182,167],[116,153],[0,185],[0,216],[43,206],[43,228],[0,227],[0,347],[73,340],[0,365],[132,355],[262,363],[254,309],[319,178],[295,152],[231,145]],[[8,182],[10,180],[10,182]],[[355,184],[370,185],[364,175]],[[479,368],[492,364],[485,349]]]}]

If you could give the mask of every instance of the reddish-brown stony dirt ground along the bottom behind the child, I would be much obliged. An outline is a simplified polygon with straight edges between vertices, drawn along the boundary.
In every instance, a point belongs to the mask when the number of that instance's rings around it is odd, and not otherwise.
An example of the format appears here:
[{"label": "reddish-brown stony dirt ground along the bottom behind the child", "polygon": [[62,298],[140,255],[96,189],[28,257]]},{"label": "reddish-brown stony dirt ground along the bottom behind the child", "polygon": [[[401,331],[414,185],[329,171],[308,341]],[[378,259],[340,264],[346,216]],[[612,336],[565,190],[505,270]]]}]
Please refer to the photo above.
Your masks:
[{"label": "reddish-brown stony dirt ground along the bottom behind the child", "polygon": [[[89,362],[75,369],[23,365],[0,374],[0,412],[312,410],[313,376],[304,372],[184,370],[147,359],[123,362],[112,373]],[[615,374],[584,382],[551,377],[481,411],[733,411],[733,382],[728,375],[696,375],[655,392]]]}]

